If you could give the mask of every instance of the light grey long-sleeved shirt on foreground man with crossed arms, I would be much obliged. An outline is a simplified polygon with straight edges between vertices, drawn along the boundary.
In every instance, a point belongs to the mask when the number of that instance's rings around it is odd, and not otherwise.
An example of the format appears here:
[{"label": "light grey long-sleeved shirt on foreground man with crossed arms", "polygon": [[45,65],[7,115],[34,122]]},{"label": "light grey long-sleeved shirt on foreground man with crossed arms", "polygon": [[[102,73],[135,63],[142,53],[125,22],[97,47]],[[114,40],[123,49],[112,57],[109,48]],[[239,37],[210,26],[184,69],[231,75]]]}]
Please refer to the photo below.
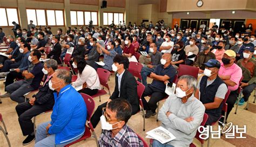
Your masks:
[{"label": "light grey long-sleeved shirt on foreground man with crossed arms", "polygon": [[[171,112],[166,116],[167,111]],[[197,129],[203,121],[205,107],[192,94],[186,103],[183,103],[176,95],[170,95],[159,110],[158,118],[162,126],[172,132],[176,137],[168,144],[173,146],[190,146],[196,136]],[[186,118],[193,117],[191,122],[185,121]]]}]

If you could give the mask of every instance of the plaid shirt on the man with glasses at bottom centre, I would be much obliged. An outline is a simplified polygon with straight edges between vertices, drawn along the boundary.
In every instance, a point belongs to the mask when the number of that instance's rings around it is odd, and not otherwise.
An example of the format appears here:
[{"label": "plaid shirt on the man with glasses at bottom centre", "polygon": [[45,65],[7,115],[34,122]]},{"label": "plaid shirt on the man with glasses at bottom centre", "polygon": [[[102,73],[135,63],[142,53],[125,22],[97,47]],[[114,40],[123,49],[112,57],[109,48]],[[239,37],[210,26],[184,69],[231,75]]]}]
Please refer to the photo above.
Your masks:
[{"label": "plaid shirt on the man with glasses at bottom centre", "polygon": [[99,146],[143,146],[143,142],[138,138],[136,133],[124,125],[124,127],[118,132],[114,138],[112,137],[112,131],[103,130],[100,134]]}]

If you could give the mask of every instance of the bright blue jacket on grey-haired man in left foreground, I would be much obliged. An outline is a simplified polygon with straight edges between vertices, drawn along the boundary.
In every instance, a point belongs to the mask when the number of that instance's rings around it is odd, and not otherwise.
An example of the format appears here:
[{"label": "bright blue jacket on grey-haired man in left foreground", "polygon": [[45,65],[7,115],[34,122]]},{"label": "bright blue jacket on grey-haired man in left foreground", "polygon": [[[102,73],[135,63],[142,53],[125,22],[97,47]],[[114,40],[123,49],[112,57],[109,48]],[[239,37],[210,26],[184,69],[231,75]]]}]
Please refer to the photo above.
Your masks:
[{"label": "bright blue jacket on grey-haired man in left foreground", "polygon": [[55,134],[55,144],[63,144],[83,135],[87,116],[83,97],[67,85],[59,92],[53,93],[55,105],[51,114],[49,134]]}]

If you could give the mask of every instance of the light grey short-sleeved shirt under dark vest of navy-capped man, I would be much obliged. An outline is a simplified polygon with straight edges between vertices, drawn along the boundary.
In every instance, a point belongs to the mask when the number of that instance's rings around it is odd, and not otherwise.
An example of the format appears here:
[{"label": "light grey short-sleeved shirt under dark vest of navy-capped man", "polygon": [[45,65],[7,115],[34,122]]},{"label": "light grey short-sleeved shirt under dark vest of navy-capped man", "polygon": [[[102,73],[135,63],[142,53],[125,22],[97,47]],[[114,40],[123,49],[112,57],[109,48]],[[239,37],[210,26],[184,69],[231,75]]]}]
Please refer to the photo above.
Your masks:
[{"label": "light grey short-sleeved shirt under dark vest of navy-capped man", "polygon": [[[203,76],[202,76],[203,77]],[[197,89],[200,89],[200,82],[201,82],[201,79],[202,77],[198,80],[198,85],[197,85]],[[206,87],[211,85],[213,82],[214,82],[215,79],[213,80],[207,80],[207,83],[206,83]],[[217,89],[217,92],[215,93],[215,97],[219,97],[220,99],[225,99],[225,95],[227,93],[227,86],[225,83],[222,83],[218,89]]]}]

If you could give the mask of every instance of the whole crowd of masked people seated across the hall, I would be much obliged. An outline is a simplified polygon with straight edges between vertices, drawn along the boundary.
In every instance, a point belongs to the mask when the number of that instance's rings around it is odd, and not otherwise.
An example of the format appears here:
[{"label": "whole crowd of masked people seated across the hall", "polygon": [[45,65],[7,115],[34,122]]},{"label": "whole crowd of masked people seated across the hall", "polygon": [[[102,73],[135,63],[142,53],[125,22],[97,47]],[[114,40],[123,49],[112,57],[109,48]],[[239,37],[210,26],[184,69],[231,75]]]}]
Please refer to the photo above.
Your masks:
[{"label": "whole crowd of masked people seated across the hall", "polygon": [[[120,22],[107,27],[68,27],[66,32],[58,29],[56,33],[49,26],[37,28],[32,20],[28,30],[13,24],[14,35],[5,36],[0,28],[0,43],[8,46],[5,55],[0,55],[0,77],[5,80],[6,92],[0,95],[0,102],[10,97],[18,103],[18,122],[26,136],[23,145],[36,140],[35,146],[64,146],[84,134],[86,104],[79,93],[93,96],[102,88],[98,68],[116,73],[113,93],[91,117],[93,128],[100,122],[103,129],[99,146],[143,146],[126,124],[140,110],[137,80],[145,86],[145,118],[156,115],[157,103],[168,97],[157,115],[176,139],[166,144],[154,140],[153,146],[189,146],[204,113],[208,115],[206,125],[224,115],[228,91],[226,121],[234,104],[247,102],[256,86],[255,36],[246,30],[234,33],[225,24],[208,30],[201,24],[196,30],[181,29],[178,23],[165,27],[164,20],[156,26],[152,22],[148,26]],[[70,71],[58,69],[67,54],[71,56],[70,69],[78,77],[75,81]],[[142,79],[128,70],[134,58],[143,65]],[[175,94],[167,95],[166,85],[175,82],[180,65],[197,67],[199,78],[180,76]],[[151,83],[147,83],[149,78]],[[82,89],[77,91],[74,87],[78,86]],[[243,97],[236,101],[239,87]],[[38,92],[26,100],[24,95],[34,90]],[[35,134],[31,118],[51,109],[51,120],[40,124]]]}]

